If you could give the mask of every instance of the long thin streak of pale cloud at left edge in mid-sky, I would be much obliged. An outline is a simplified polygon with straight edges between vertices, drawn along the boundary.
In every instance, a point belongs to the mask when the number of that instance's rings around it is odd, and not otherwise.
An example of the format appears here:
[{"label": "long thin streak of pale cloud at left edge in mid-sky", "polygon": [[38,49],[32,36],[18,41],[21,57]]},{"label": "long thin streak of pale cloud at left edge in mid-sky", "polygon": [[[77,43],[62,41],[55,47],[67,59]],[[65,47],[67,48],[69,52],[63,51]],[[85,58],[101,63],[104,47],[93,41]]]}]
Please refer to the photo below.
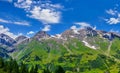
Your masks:
[{"label": "long thin streak of pale cloud at left edge in mid-sky", "polygon": [[9,23],[9,24],[16,24],[16,25],[24,25],[29,26],[30,24],[27,21],[9,21],[0,18],[0,22],[2,23]]}]

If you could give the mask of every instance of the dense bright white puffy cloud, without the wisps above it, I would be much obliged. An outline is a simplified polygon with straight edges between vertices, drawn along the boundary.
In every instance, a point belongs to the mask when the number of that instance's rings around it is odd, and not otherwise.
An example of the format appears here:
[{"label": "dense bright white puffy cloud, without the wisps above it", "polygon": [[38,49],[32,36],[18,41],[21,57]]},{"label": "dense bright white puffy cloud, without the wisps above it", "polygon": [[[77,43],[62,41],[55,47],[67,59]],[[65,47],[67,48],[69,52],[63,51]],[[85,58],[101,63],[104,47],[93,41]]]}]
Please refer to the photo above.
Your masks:
[{"label": "dense bright white puffy cloud, without the wisps above it", "polygon": [[35,6],[34,9],[30,11],[30,13],[31,15],[28,15],[29,17],[38,19],[44,24],[59,23],[60,21],[60,12],[56,12],[51,9],[42,9]]}]

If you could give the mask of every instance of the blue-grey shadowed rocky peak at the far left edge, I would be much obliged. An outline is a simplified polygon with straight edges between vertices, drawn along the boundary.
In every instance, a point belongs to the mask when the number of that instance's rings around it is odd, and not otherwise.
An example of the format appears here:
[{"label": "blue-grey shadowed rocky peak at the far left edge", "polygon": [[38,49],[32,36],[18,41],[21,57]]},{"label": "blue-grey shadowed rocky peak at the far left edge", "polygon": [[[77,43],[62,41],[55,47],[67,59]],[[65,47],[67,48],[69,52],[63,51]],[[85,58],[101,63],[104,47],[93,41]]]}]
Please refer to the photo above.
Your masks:
[{"label": "blue-grey shadowed rocky peak at the far left edge", "polygon": [[9,37],[8,35],[0,34],[0,45],[12,47],[15,43],[16,41]]}]

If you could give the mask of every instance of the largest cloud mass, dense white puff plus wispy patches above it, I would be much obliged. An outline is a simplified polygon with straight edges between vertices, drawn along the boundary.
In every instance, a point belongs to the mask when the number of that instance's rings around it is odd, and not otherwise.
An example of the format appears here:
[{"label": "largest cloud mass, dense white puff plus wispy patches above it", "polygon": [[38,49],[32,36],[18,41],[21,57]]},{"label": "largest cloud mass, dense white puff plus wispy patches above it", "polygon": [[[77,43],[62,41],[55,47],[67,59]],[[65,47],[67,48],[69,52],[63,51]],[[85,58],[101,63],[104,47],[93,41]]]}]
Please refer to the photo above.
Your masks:
[{"label": "largest cloud mass, dense white puff plus wispy patches above it", "polygon": [[63,6],[60,4],[52,4],[51,1],[32,1],[18,0],[14,4],[18,8],[23,8],[27,12],[27,16],[37,19],[44,24],[59,23]]}]

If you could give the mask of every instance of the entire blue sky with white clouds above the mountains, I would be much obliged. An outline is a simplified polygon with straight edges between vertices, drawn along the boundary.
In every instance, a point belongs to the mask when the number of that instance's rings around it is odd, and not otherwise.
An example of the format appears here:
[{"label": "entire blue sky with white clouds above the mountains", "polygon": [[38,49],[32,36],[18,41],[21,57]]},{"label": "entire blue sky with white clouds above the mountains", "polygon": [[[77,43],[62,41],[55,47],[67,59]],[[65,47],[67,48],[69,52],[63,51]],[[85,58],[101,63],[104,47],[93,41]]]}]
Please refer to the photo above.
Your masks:
[{"label": "entire blue sky with white clouds above the mountains", "polygon": [[90,26],[120,31],[119,0],[0,0],[0,33],[15,38]]}]

